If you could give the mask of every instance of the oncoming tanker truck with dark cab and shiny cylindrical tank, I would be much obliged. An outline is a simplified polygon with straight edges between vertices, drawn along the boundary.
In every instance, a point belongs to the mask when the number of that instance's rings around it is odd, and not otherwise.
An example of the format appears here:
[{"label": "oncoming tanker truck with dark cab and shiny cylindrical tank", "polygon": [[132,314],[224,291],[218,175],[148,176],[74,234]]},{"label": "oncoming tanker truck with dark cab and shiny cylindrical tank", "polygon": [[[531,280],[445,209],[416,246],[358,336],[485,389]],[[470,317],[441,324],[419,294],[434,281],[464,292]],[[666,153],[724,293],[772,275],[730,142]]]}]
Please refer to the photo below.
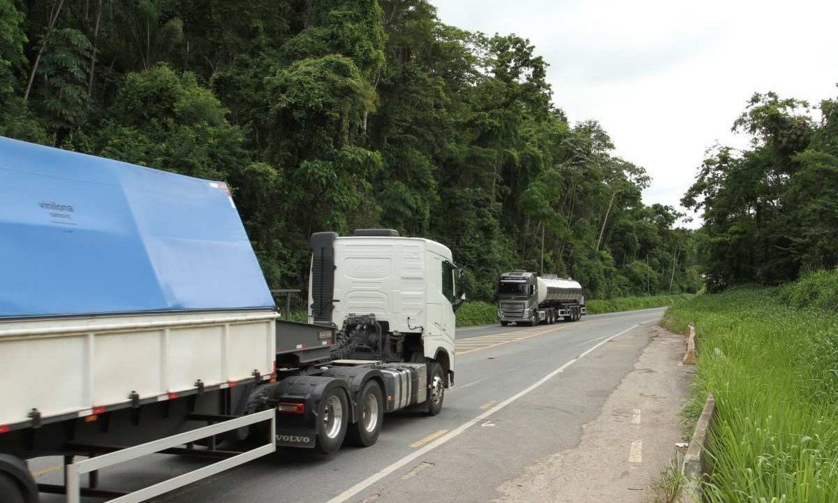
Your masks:
[{"label": "oncoming tanker truck with dark cab and shiny cylindrical tank", "polygon": [[535,272],[505,272],[498,283],[500,324],[553,324],[577,321],[585,314],[582,285],[571,278],[537,276]]}]

